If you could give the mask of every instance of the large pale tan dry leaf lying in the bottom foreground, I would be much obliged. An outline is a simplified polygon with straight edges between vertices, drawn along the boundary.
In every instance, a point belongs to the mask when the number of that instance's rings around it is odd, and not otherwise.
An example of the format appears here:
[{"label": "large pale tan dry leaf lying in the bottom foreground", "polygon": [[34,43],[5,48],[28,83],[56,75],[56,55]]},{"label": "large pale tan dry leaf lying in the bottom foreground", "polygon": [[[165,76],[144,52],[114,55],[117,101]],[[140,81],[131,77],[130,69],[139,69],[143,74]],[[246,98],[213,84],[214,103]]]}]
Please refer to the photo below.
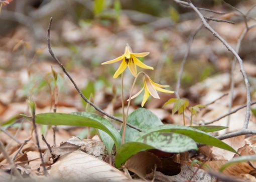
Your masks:
[{"label": "large pale tan dry leaf lying in the bottom foreground", "polygon": [[128,179],[122,172],[108,163],[81,150],[61,156],[52,165],[50,178],[87,181],[121,181]]}]

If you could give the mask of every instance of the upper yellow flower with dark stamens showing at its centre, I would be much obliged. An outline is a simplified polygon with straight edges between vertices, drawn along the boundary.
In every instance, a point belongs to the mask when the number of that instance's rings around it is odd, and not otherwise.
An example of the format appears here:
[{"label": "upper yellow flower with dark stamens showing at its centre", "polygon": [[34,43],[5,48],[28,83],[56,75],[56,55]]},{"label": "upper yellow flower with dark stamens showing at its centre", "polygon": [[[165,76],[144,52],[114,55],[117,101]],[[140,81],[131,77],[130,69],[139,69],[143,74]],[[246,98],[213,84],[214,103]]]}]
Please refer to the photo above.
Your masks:
[{"label": "upper yellow flower with dark stamens showing at its centre", "polygon": [[144,64],[142,61],[140,61],[137,58],[137,57],[144,57],[144,56],[146,56],[148,54],[149,54],[149,52],[133,53],[131,47],[127,43],[126,46],[125,46],[124,53],[121,56],[119,56],[119,57],[117,57],[115,59],[103,62],[101,64],[110,64],[110,63],[114,63],[114,62],[117,62],[119,60],[122,60],[119,68],[115,71],[113,77],[116,78],[119,74],[121,74],[124,71],[124,69],[127,66],[129,67],[131,73],[134,76],[136,76],[137,75],[136,65],[138,65],[138,66],[140,66],[142,68],[145,68],[145,69],[154,69],[153,67]]}]

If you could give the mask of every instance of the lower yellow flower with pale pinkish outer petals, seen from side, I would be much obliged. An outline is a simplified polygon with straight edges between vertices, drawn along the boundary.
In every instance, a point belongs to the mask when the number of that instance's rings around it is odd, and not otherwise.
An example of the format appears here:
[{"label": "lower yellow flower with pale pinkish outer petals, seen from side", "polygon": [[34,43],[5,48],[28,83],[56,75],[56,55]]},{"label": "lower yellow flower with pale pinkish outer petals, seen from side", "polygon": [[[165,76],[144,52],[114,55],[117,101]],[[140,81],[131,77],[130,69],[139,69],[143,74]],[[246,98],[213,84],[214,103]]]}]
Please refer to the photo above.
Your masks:
[{"label": "lower yellow flower with pale pinkish outer petals, seen from side", "polygon": [[155,83],[154,81],[152,81],[152,79],[149,77],[148,74],[144,74],[143,82],[144,82],[143,88],[138,93],[136,93],[134,96],[131,97],[131,99],[135,98],[144,89],[144,97],[143,97],[143,100],[142,100],[142,107],[144,106],[145,102],[149,98],[149,95],[152,95],[154,98],[160,98],[158,93],[157,93],[157,90],[162,91],[162,92],[166,92],[166,93],[174,93],[174,91],[164,89],[165,87],[169,87],[169,85],[162,85],[162,84]]}]

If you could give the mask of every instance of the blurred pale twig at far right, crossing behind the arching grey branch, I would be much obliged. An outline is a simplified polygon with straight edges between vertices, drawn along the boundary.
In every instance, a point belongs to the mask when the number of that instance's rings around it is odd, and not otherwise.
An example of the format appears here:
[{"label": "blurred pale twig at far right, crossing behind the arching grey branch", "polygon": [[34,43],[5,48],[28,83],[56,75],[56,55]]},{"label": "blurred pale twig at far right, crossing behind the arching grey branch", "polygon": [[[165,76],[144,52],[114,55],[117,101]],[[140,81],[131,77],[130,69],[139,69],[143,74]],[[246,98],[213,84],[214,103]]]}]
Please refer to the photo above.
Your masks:
[{"label": "blurred pale twig at far right, crossing behind the arching grey branch", "polygon": [[[256,26],[256,23],[252,24],[252,25],[249,25],[248,27],[245,27],[240,35],[240,37],[238,38],[237,40],[237,43],[236,43],[236,47],[235,47],[235,51],[237,53],[239,53],[239,49],[240,49],[240,46],[241,46],[241,42],[244,38],[244,36],[246,35],[246,33],[253,27]],[[233,96],[234,96],[234,69],[235,69],[235,64],[236,64],[236,57],[233,58],[233,61],[232,61],[232,64],[231,64],[231,70],[230,70],[230,95],[229,95],[229,103],[228,103],[228,112],[231,111],[231,107],[232,107],[232,104],[233,104]],[[230,123],[230,115],[228,115],[227,117],[227,127],[229,126],[229,123]]]}]

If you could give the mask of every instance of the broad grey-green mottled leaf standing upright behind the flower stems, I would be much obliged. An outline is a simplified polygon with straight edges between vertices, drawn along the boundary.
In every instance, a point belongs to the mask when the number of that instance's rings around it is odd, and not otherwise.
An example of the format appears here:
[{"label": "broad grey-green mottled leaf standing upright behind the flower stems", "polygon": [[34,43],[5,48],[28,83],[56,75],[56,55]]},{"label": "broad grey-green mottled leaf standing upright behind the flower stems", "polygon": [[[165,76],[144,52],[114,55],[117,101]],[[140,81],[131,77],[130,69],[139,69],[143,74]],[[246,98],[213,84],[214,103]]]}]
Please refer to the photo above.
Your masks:
[{"label": "broad grey-green mottled leaf standing upright behind the flower stems", "polygon": [[[163,125],[163,122],[152,111],[146,108],[138,108],[127,117],[127,123],[133,124],[142,130],[152,126]],[[122,133],[122,129],[120,131]],[[140,132],[126,126],[125,141],[135,141]]]}]

